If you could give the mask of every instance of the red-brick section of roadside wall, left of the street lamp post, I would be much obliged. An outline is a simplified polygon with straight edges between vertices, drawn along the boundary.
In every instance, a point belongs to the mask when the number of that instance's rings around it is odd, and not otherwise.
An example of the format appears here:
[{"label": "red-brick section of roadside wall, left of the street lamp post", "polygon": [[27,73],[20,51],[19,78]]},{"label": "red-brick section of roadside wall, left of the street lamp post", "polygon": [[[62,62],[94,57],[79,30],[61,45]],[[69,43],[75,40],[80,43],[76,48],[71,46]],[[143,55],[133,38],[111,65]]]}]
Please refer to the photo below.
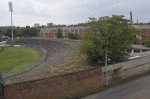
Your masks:
[{"label": "red-brick section of roadside wall, left of the street lamp post", "polygon": [[5,99],[62,99],[102,87],[102,69],[95,68],[47,79],[5,85]]}]

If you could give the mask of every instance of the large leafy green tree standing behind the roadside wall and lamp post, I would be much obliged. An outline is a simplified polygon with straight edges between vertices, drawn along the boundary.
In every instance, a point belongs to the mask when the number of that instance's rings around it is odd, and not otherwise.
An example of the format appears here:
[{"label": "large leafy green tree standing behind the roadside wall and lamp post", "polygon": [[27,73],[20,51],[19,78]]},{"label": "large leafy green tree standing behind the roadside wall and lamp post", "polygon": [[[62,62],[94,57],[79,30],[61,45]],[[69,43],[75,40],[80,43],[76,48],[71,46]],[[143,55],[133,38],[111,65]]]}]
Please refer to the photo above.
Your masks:
[{"label": "large leafy green tree standing behind the roadside wall and lamp post", "polygon": [[122,15],[90,18],[88,33],[81,44],[81,52],[90,61],[105,60],[105,52],[111,62],[124,60],[131,51],[132,35],[137,32]]}]

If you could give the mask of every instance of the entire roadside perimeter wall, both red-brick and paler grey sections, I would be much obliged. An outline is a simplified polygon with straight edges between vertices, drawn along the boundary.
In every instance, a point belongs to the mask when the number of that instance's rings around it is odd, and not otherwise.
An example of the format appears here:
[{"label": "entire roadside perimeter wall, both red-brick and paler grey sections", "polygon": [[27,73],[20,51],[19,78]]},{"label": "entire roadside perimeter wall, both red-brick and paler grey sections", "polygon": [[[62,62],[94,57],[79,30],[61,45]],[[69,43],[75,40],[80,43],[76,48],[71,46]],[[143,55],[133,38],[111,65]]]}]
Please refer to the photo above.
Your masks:
[{"label": "entire roadside perimeter wall, both red-brick and paler grey sections", "polygon": [[[108,66],[109,83],[115,79],[142,74],[150,70],[150,52],[145,56]],[[103,86],[103,68],[94,68],[41,80],[4,86],[5,99],[63,99],[87,93]]]}]

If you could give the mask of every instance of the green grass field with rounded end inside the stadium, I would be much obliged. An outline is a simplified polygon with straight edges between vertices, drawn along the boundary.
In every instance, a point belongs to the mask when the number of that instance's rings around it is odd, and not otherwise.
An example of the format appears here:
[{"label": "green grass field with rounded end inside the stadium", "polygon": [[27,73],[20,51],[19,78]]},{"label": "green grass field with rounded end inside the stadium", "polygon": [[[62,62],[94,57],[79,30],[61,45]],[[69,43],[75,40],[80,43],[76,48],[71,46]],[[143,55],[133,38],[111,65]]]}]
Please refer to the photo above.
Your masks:
[{"label": "green grass field with rounded end inside the stadium", "polygon": [[[0,50],[3,47],[0,47]],[[28,47],[5,47],[0,51],[0,73],[25,68],[40,58],[38,50]]]}]

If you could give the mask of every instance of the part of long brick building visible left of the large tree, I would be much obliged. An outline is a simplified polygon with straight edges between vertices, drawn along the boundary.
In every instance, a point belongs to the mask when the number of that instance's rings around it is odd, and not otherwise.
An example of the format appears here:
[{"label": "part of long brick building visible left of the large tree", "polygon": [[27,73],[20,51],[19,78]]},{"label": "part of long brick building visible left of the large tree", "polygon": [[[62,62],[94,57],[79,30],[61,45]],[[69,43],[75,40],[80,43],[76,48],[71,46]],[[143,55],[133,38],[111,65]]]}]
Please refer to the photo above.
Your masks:
[{"label": "part of long brick building visible left of the large tree", "polygon": [[67,38],[68,33],[76,33],[79,39],[83,39],[86,32],[86,28],[87,27],[84,25],[44,27],[40,30],[40,37],[57,38],[58,31],[61,30],[64,38]]}]

